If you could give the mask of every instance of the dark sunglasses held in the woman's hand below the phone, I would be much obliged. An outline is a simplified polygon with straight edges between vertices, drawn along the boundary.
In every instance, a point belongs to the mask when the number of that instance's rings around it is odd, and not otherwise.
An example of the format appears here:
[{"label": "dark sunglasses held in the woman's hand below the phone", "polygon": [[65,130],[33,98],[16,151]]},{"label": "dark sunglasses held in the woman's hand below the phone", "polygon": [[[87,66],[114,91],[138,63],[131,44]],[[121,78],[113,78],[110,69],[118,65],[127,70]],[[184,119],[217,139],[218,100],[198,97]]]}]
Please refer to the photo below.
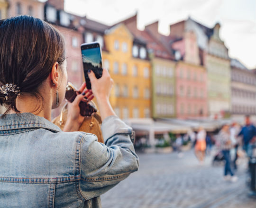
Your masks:
[{"label": "dark sunglasses held in the woman's hand below the phone", "polygon": [[[72,103],[76,95],[79,95],[79,94],[81,94],[81,92],[77,91],[76,88],[73,86],[73,84],[68,82],[66,86],[65,99]],[[82,116],[91,116],[93,113],[98,112],[96,104],[94,104],[93,101],[90,101],[88,99],[86,102],[81,101],[79,103],[79,107],[80,107],[80,114]]]}]

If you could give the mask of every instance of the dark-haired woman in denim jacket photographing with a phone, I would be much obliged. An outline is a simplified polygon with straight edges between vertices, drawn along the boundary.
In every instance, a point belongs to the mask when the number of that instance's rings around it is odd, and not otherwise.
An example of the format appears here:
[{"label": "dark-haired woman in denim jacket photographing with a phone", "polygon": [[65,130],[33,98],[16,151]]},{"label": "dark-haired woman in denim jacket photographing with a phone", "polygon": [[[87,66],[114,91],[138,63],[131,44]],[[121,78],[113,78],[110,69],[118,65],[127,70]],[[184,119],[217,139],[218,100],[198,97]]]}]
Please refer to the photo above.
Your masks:
[{"label": "dark-haired woman in denim jacket photographing with a phone", "polygon": [[[100,195],[138,169],[132,129],[109,102],[108,71],[100,79],[90,71],[92,91],[80,87],[64,132],[51,122],[67,83],[62,35],[38,18],[12,17],[0,20],[0,46],[0,98],[8,109],[0,118],[0,207],[101,207]],[[77,131],[84,96],[97,99],[105,144]]]}]

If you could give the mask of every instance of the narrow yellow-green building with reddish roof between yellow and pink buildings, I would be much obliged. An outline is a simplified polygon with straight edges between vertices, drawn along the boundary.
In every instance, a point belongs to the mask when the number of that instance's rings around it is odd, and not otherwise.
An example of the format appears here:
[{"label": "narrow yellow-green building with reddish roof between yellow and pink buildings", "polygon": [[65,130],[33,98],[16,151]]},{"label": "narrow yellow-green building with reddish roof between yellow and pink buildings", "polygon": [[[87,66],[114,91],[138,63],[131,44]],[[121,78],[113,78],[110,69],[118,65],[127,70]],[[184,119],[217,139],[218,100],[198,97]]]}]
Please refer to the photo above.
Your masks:
[{"label": "narrow yellow-green building with reddish roof between yellow and pink buildings", "polygon": [[[165,46],[159,42],[149,30],[137,29],[137,14],[122,21],[134,37],[146,44],[151,61],[151,116],[175,117],[175,84],[174,84],[174,57],[166,50]],[[155,26],[158,22],[147,27]]]}]

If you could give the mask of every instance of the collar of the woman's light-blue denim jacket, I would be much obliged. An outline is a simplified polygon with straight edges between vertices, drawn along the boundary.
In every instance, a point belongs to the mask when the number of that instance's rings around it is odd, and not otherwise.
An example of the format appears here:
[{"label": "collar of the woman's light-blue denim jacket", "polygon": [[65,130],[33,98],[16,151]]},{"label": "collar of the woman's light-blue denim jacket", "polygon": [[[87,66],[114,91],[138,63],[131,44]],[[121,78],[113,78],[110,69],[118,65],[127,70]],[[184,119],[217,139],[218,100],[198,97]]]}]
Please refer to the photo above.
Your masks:
[{"label": "collar of the woman's light-blue denim jacket", "polygon": [[[0,114],[1,116],[1,114]],[[11,113],[0,118],[0,131],[20,129],[47,129],[54,132],[62,131],[46,118],[33,113]]]}]

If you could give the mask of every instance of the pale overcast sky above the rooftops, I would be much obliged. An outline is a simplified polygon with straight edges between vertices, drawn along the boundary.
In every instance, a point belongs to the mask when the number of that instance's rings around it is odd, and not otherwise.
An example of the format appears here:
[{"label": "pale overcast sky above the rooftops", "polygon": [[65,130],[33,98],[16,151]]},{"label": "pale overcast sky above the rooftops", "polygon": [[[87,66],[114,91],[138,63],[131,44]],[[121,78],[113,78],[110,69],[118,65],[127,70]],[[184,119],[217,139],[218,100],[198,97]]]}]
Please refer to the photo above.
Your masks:
[{"label": "pale overcast sky above the rooftops", "polygon": [[159,20],[159,32],[189,16],[205,26],[221,25],[229,56],[256,68],[256,0],[65,0],[64,10],[112,25],[136,14],[138,29]]}]

